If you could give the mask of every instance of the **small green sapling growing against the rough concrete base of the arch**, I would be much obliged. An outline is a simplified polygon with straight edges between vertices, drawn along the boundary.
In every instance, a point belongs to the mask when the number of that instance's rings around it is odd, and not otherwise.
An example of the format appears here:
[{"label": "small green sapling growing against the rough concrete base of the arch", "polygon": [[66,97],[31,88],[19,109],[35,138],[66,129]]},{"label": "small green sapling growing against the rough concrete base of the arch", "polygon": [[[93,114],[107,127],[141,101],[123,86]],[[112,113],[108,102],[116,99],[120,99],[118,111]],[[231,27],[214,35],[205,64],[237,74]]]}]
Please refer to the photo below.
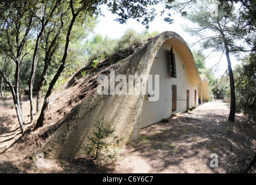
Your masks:
[{"label": "small green sapling growing against the rough concrete base of the arch", "polygon": [[115,158],[115,153],[109,153],[109,146],[118,145],[121,139],[114,135],[115,129],[111,124],[104,121],[104,117],[101,120],[97,120],[93,124],[94,132],[90,137],[91,145],[87,147],[87,153],[92,154],[95,160],[102,161],[112,160]]}]

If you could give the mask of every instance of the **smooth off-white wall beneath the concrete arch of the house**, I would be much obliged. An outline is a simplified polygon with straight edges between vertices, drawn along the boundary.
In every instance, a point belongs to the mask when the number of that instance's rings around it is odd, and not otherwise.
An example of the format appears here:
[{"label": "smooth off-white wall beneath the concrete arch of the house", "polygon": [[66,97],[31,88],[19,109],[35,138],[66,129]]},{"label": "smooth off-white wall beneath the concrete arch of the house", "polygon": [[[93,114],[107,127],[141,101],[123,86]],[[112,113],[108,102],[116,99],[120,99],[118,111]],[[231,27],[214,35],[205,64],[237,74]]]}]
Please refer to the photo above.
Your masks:
[{"label": "smooth off-white wall beneath the concrete arch of the house", "polygon": [[[170,48],[171,46],[167,42],[164,42],[158,51],[158,58],[155,58],[151,66],[149,75],[159,75],[160,79],[159,99],[158,101],[148,101],[146,98],[147,95],[144,95],[141,128],[171,116],[171,86],[173,84],[177,85],[177,112],[184,112],[186,109],[186,90],[189,90],[189,108],[195,106],[195,90],[197,94],[196,105],[198,105],[198,84],[192,83],[191,77],[189,77],[187,72],[188,69],[183,68],[182,65],[184,65],[184,62],[182,61],[181,55],[175,50],[175,46],[173,46],[173,52],[175,54],[177,78],[170,77]],[[180,99],[184,100],[182,101]]]}]

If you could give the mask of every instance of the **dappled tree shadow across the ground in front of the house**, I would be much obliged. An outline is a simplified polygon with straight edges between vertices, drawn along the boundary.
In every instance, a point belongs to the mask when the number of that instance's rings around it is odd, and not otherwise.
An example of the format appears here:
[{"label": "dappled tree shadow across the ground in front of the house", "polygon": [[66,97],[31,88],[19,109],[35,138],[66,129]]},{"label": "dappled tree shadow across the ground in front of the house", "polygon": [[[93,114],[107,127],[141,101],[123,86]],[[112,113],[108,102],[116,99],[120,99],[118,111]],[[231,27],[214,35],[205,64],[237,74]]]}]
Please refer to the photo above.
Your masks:
[{"label": "dappled tree shadow across the ground in front of the house", "polygon": [[[231,122],[225,114],[216,115],[214,111],[204,116],[214,121],[173,117],[169,123],[156,123],[154,129],[159,129],[150,134],[143,132],[130,154],[139,152],[150,161],[155,172],[176,166],[186,173],[188,171],[182,169],[182,165],[190,164],[189,161],[195,158],[203,161],[200,165],[206,166],[205,172],[242,172],[256,149],[255,127],[246,121],[246,117],[237,117]],[[218,155],[218,168],[210,167],[211,153]]]}]

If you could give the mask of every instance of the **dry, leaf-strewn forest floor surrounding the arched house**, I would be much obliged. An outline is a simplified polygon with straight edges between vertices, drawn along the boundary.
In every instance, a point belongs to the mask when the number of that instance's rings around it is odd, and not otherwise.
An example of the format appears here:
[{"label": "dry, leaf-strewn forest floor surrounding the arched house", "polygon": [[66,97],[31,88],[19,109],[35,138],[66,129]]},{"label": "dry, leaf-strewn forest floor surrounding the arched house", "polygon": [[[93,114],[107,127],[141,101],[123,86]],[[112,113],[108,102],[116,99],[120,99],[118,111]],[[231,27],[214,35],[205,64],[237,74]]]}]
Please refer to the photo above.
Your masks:
[{"label": "dry, leaf-strewn forest floor surrounding the arched house", "polygon": [[[138,142],[118,147],[118,160],[107,168],[87,157],[47,160],[36,157],[36,151],[54,128],[34,131],[24,99],[28,132],[22,136],[11,105],[11,97],[0,99],[0,173],[240,173],[256,151],[255,125],[242,113],[236,113],[235,122],[228,121],[228,105],[217,100],[142,128]],[[212,160],[218,166],[212,167]],[[256,165],[249,173],[256,173]]]}]

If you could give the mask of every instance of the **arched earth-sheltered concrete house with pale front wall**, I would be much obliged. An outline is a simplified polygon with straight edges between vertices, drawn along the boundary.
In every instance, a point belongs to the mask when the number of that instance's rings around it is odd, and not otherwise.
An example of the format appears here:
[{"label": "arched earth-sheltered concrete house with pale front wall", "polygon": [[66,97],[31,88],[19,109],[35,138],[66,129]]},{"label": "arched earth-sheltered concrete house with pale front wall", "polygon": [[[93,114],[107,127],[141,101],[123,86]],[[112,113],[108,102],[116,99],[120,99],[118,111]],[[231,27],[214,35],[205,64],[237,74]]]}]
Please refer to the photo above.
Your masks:
[{"label": "arched earth-sheltered concrete house with pale front wall", "polygon": [[[115,134],[123,138],[122,143],[127,143],[138,139],[140,128],[170,117],[172,113],[184,112],[209,98],[207,79],[200,79],[191,50],[175,32],[156,35],[112,70],[114,72],[110,74],[105,72],[101,80],[97,77],[91,80],[97,87],[105,83],[110,92],[113,88],[116,92],[122,86],[125,88],[122,88],[122,93],[99,94],[97,88],[91,90],[39,153],[46,158],[83,156],[94,129],[93,123],[103,117],[115,127]],[[129,75],[140,76],[139,82],[149,82],[149,77],[152,77],[152,84],[147,83],[147,88],[141,88],[137,93],[126,93],[126,90],[131,90],[131,86],[125,84]],[[111,77],[113,83],[106,83]],[[132,88],[137,89],[140,85],[134,82]],[[155,96],[158,98],[152,101]]]}]

